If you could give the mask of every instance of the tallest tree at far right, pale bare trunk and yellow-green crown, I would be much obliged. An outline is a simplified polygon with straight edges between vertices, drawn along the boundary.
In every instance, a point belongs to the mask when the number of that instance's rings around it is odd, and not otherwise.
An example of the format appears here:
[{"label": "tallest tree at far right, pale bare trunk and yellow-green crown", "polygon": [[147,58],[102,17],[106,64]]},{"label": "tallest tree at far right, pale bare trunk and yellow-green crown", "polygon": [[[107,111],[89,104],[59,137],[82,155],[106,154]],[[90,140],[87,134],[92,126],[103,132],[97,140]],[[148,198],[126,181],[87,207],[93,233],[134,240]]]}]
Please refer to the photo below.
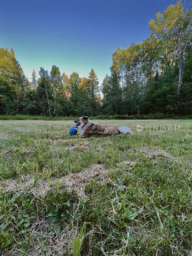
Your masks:
[{"label": "tallest tree at far right, pale bare trunk and yellow-green crown", "polygon": [[149,22],[150,31],[157,35],[161,35],[164,42],[168,42],[174,36],[177,38],[177,45],[179,48],[179,81],[176,93],[178,97],[182,85],[185,65],[192,50],[190,49],[186,52],[189,44],[191,45],[191,41],[189,40],[192,33],[191,17],[192,9],[184,10],[184,5],[178,1],[177,4],[170,5],[162,14],[158,12],[156,14],[156,19]]}]

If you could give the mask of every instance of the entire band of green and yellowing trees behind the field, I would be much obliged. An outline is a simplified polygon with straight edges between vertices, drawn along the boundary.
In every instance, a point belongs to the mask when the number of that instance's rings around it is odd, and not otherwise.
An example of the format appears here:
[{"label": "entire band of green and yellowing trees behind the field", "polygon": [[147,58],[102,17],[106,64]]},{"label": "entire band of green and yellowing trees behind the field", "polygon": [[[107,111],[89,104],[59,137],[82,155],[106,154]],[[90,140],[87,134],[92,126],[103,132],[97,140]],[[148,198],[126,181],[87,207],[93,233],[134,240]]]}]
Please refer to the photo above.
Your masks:
[{"label": "entire band of green and yellowing trees behind the field", "polygon": [[41,67],[29,81],[13,49],[0,47],[0,115],[191,115],[192,9],[170,5],[149,31],[143,42],[112,53],[101,86],[94,67],[88,77]]}]

